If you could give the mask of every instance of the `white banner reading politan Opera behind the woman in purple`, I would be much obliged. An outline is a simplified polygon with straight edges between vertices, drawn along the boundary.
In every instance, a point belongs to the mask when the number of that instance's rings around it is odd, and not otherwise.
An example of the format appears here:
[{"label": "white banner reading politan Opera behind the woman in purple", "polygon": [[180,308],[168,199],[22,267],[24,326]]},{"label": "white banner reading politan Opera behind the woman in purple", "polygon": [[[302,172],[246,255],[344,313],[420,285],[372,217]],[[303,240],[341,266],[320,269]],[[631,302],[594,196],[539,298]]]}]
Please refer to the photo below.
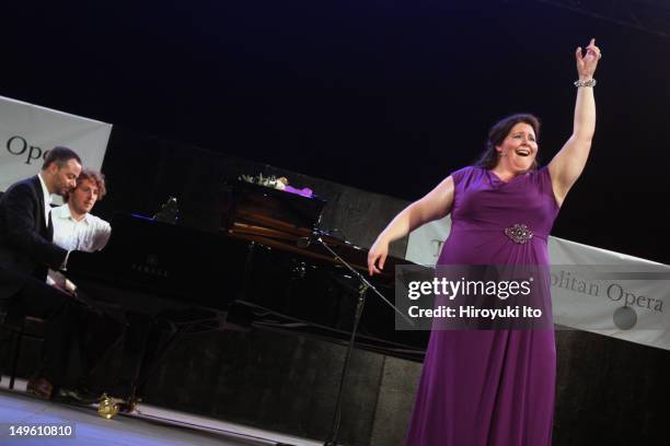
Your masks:
[{"label": "white banner reading politan Opera behind the woman in purple", "polygon": [[[450,219],[409,234],[405,258],[435,266]],[[554,320],[670,350],[670,266],[557,237],[548,239]]]}]

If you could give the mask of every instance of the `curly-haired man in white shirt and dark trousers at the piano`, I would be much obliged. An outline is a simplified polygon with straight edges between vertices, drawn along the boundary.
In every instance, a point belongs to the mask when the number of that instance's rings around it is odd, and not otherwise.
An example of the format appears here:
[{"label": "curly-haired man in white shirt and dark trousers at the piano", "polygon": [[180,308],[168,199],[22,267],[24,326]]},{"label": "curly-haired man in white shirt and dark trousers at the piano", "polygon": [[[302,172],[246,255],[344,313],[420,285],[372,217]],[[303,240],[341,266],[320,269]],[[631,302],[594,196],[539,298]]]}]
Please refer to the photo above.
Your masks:
[{"label": "curly-haired man in white shirt and dark trousers at the piano", "polygon": [[[51,210],[54,219],[54,243],[68,250],[95,253],[102,250],[109,240],[112,226],[103,219],[91,213],[93,207],[106,195],[103,174],[82,169],[77,186],[65,196],[66,204]],[[160,337],[158,326],[150,318],[131,312],[118,314],[118,308],[105,306],[104,296],[86,295],[77,284],[62,273],[49,270],[48,282],[93,309],[79,312],[74,336],[78,340],[81,369],[72,386],[61,388],[59,397],[79,402],[94,402],[103,392],[123,400],[130,400],[135,394],[135,383],[141,372],[146,345],[157,348],[153,341]],[[124,330],[125,328],[125,330]],[[125,336],[124,336],[125,334]],[[113,345],[123,337],[120,367],[116,376],[105,376],[109,383],[100,383],[92,372]]]}]

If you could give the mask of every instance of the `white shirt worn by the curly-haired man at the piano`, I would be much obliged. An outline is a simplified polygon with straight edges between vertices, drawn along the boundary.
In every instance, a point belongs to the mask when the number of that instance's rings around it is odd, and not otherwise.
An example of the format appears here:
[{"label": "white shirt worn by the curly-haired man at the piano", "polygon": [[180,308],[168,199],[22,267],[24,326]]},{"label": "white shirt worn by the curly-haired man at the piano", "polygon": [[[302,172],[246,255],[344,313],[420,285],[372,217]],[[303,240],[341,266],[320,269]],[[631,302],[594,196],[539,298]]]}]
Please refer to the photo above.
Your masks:
[{"label": "white shirt worn by the curly-haired man at the piano", "polygon": [[[54,243],[67,249],[68,253],[101,250],[112,235],[109,223],[95,215],[86,213],[80,221],[74,220],[67,203],[51,209],[51,223],[54,224]],[[47,283],[65,286],[66,278],[57,271],[49,270]]]}]

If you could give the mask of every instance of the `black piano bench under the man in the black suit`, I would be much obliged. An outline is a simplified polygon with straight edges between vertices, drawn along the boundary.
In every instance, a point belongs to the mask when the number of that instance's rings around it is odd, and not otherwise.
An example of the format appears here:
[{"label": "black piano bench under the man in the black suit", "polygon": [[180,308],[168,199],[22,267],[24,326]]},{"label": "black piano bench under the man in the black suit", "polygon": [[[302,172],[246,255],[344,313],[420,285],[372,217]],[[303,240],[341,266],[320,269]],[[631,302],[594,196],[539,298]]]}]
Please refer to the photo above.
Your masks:
[{"label": "black piano bench under the man in the black suit", "polygon": [[[14,388],[16,379],[16,369],[19,368],[19,359],[21,355],[21,344],[25,338],[34,339],[44,342],[44,332],[42,330],[45,319],[36,316],[26,315],[22,312],[13,309],[0,309],[0,329],[9,332],[7,338],[2,338],[3,343],[10,343],[8,354],[11,360],[10,364],[10,384],[9,388]],[[39,329],[37,329],[37,326]],[[7,357],[7,356],[5,356]],[[3,361],[8,364],[8,361]],[[0,376],[4,374],[4,369],[0,369]]]}]

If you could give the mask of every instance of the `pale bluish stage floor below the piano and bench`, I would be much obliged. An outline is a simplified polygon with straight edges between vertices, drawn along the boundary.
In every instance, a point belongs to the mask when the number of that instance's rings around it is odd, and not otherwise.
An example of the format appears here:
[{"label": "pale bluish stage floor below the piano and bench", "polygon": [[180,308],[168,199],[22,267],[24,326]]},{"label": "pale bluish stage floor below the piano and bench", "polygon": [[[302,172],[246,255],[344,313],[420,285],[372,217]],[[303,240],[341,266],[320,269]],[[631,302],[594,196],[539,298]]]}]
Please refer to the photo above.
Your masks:
[{"label": "pale bluish stage floor below the piano and bench", "polygon": [[[95,408],[44,401],[25,395],[25,382],[15,390],[0,382],[0,445],[16,446],[317,446],[323,442],[292,437],[220,420],[138,404],[137,413],[105,420]],[[73,438],[8,437],[11,424],[73,424]]]}]

